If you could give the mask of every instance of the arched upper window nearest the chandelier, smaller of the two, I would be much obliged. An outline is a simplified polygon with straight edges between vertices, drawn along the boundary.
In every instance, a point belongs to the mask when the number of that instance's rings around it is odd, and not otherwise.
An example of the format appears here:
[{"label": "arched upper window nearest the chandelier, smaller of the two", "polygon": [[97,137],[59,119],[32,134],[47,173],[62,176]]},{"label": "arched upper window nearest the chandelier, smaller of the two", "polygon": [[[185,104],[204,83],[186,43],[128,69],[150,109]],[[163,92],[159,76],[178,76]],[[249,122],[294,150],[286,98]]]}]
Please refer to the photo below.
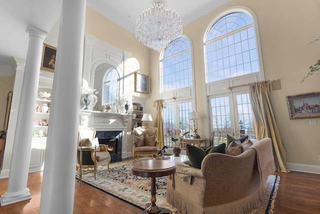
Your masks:
[{"label": "arched upper window nearest the chandelier, smaller of the two", "polygon": [[160,59],[161,92],[192,86],[191,45],[178,38],[170,43]]}]

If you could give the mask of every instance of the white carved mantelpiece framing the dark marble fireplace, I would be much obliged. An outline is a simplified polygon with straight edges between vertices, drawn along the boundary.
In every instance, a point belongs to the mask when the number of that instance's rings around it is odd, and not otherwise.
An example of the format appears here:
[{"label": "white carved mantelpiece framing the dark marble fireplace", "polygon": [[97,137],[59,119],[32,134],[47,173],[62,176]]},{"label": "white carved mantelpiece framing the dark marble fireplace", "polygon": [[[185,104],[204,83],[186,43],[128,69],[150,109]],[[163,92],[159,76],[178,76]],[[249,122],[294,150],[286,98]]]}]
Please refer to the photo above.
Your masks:
[{"label": "white carved mantelpiece framing the dark marble fireplace", "polygon": [[[130,114],[109,113],[101,111],[80,110],[80,126],[93,127],[97,133],[101,131],[121,132],[118,148],[121,158],[127,157],[126,151],[126,132],[127,123],[132,118]],[[111,159],[114,159],[111,157]],[[117,159],[117,158],[116,158]],[[119,161],[119,160],[117,160]]]}]

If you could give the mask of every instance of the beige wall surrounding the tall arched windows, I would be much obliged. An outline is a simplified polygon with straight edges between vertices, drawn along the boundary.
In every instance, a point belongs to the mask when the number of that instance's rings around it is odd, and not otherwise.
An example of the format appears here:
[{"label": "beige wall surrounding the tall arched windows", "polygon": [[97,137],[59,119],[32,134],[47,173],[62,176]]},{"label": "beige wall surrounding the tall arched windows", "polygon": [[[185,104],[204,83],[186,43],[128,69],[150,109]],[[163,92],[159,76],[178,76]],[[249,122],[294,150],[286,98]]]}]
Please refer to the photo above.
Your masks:
[{"label": "beige wall surrounding the tall arched windows", "polygon": [[[258,21],[262,61],[265,79],[280,79],[281,90],[271,92],[273,110],[280,136],[286,149],[287,162],[320,166],[317,156],[320,155],[319,125],[309,126],[309,119],[290,120],[286,96],[319,91],[320,74],[315,74],[304,83],[300,81],[308,73],[308,67],[320,59],[320,41],[307,45],[320,37],[318,22],[320,20],[320,2],[318,0],[233,0],[228,5],[212,11],[206,16],[183,26],[193,44],[193,62],[195,75],[196,110],[205,112],[205,89],[203,87],[203,36],[212,20],[223,10],[233,6],[245,6],[251,9]],[[158,57],[151,54],[150,69],[152,76],[158,75]],[[158,83],[153,82],[153,90]],[[154,91],[153,91],[154,92]],[[152,93],[148,105],[157,98]],[[155,109],[155,108],[154,108]],[[207,114],[207,113],[206,113]],[[204,129],[204,119],[199,121],[199,135]]]}]

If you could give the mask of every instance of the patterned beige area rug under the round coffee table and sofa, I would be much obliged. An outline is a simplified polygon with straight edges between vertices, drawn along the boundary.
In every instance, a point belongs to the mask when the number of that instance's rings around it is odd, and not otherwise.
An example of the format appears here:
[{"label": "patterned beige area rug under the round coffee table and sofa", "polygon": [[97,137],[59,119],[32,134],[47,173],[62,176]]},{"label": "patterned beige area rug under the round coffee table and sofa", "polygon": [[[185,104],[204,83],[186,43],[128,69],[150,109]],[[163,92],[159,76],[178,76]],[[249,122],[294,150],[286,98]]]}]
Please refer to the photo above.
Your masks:
[{"label": "patterned beige area rug under the round coffee table and sofa", "polygon": [[[150,202],[151,179],[132,175],[130,171],[131,163],[132,160],[111,163],[109,169],[106,166],[99,166],[96,172],[96,180],[94,180],[93,173],[89,173],[82,175],[82,182],[143,210],[145,203]],[[279,179],[279,176],[269,176],[265,188],[265,199],[250,214],[273,213],[272,208]],[[173,214],[180,213],[174,206],[166,202],[165,176],[156,178],[156,205],[170,209]]]}]

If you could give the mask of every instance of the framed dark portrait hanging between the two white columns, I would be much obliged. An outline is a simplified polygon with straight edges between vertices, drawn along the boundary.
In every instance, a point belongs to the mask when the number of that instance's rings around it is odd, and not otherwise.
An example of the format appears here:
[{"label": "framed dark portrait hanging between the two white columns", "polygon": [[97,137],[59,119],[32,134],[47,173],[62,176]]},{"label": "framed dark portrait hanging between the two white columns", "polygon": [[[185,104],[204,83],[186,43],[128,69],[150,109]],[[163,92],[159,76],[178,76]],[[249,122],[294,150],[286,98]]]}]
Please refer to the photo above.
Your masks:
[{"label": "framed dark portrait hanging between the two white columns", "polygon": [[56,48],[43,43],[41,69],[54,72]]}]

